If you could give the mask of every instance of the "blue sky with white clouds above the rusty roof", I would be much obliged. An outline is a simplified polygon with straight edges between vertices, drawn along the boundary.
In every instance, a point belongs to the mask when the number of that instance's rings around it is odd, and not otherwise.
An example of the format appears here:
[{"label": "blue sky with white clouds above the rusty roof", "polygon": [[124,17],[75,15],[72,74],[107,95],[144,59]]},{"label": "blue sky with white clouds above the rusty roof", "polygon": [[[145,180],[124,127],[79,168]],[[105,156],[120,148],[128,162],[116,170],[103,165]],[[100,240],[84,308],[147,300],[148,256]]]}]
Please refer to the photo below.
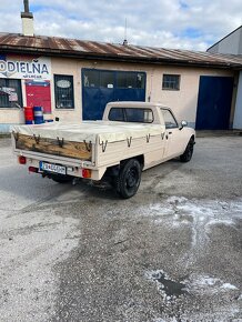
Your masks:
[{"label": "blue sky with white clouds above the rusty roof", "polygon": [[[241,0],[29,0],[37,34],[205,50],[242,24]],[[23,1],[0,0],[0,31],[21,32]]]}]

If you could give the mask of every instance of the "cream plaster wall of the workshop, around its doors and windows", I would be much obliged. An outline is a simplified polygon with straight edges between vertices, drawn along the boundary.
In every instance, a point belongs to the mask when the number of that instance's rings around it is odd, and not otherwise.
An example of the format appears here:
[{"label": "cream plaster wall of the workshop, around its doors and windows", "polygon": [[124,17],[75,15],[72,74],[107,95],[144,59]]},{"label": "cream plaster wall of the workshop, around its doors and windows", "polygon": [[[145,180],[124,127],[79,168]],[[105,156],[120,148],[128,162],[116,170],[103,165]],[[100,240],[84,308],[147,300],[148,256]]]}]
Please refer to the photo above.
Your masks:
[{"label": "cream plaster wall of the workshop, around its doors and windows", "polygon": [[[103,70],[125,70],[125,71],[143,71],[147,73],[147,101],[162,102],[169,105],[179,120],[185,119],[194,127],[196,117],[196,104],[199,94],[200,76],[221,76],[231,77],[232,71],[219,69],[203,69],[203,68],[181,68],[181,67],[165,67],[151,64],[135,64],[135,63],[120,63],[120,62],[102,62],[102,61],[87,61],[78,59],[51,59],[51,107],[52,113],[46,114],[46,119],[53,119],[59,117],[63,121],[79,121],[82,118],[82,83],[81,69],[103,69]],[[180,74],[180,90],[162,90],[162,74]],[[74,90],[74,109],[60,110],[56,109],[54,101],[54,74],[73,76]],[[22,99],[23,105],[27,103],[26,84],[22,81]],[[23,112],[19,109],[1,109],[0,108],[0,132],[1,128],[6,129],[6,124],[23,123]],[[1,125],[2,124],[2,125]],[[3,125],[4,124],[4,125]]]}]

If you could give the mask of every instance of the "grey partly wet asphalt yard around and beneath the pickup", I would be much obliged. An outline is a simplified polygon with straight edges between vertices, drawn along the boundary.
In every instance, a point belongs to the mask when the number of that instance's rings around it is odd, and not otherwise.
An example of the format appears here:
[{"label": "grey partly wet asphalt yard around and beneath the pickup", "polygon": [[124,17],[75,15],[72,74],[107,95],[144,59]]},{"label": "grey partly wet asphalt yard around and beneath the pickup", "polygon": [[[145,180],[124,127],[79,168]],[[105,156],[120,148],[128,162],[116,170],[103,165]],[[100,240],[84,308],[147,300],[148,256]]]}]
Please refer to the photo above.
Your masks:
[{"label": "grey partly wet asphalt yard around and beneath the pickup", "polygon": [[1,321],[242,321],[242,138],[199,138],[138,194],[58,184],[0,140]]}]

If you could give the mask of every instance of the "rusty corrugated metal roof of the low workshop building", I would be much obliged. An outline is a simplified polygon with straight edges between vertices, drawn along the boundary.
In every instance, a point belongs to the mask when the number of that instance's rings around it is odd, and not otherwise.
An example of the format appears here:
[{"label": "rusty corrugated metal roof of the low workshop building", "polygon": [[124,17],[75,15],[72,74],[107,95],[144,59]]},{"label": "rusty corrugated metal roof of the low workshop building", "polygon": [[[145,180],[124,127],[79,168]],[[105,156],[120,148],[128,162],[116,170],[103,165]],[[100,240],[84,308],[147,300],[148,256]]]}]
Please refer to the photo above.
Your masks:
[{"label": "rusty corrugated metal roof of the low workshop building", "polygon": [[0,33],[0,51],[3,53],[242,69],[242,56],[83,41],[59,37],[27,37],[19,33]]}]

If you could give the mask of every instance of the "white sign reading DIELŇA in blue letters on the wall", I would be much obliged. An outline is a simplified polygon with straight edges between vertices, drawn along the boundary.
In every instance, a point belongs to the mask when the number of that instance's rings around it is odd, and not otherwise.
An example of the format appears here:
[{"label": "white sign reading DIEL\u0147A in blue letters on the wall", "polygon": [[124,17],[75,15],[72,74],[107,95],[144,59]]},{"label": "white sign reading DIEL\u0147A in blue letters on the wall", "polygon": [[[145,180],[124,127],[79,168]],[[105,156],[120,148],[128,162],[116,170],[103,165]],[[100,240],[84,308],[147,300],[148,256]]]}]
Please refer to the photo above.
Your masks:
[{"label": "white sign reading DIEL\u0147A in blue letters on the wall", "polygon": [[0,78],[50,80],[51,60],[44,57],[24,59],[1,56]]}]

